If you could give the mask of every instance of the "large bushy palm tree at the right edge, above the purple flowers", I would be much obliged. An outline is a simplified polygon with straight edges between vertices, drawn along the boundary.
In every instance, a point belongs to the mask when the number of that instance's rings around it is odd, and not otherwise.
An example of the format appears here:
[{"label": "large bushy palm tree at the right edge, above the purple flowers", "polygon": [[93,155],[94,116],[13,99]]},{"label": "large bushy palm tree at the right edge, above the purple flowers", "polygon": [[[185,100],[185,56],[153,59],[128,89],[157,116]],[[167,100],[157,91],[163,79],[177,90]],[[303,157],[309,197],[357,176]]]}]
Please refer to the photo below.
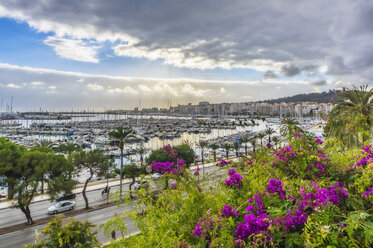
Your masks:
[{"label": "large bushy palm tree at the right edge, above the purple flowers", "polygon": [[[373,89],[353,87],[338,94],[335,108],[330,112],[326,135],[346,143],[364,143],[373,126]],[[359,133],[361,142],[359,142]],[[369,135],[367,134],[369,133]]]}]

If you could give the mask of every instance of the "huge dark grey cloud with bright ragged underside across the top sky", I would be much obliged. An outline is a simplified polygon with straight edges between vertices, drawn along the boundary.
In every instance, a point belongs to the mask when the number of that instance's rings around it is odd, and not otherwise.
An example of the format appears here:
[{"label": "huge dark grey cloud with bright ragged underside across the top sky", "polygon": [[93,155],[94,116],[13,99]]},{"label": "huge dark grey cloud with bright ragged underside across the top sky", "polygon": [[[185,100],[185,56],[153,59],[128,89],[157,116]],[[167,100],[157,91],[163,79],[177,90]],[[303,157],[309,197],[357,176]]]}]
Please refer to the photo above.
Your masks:
[{"label": "huge dark grey cloud with bright ragged underside across the top sky", "polygon": [[[46,44],[80,61],[96,62],[99,43],[109,40],[118,56],[177,67],[373,80],[369,0],[14,0],[0,3],[0,16],[55,33]],[[91,39],[97,47],[75,54]]]}]

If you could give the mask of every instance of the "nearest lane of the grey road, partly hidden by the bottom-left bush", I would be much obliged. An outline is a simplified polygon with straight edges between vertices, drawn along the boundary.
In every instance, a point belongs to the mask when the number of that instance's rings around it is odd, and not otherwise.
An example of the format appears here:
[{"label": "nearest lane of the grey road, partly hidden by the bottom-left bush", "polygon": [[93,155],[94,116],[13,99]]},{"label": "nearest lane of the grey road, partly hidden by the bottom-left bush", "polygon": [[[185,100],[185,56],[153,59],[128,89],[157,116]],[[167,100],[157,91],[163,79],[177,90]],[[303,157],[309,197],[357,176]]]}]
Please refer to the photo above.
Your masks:
[{"label": "nearest lane of the grey road, partly hidden by the bottom-left bush", "polygon": [[[131,211],[132,207],[126,206],[125,208],[118,208],[117,206],[112,206],[104,209],[99,209],[91,212],[87,212],[81,215],[74,216],[75,220],[88,220],[89,222],[96,225],[94,231],[97,231],[97,239],[101,243],[106,243],[110,239],[106,238],[103,234],[103,231],[100,229],[100,225],[107,222],[109,219],[113,218],[115,213],[121,214],[124,211]],[[126,227],[128,231],[126,235],[131,235],[138,232],[137,227],[132,222],[130,218],[125,219]],[[43,236],[40,235],[40,230],[42,230],[45,225],[39,225],[36,227],[26,228],[23,230],[7,233],[0,236],[0,248],[21,248],[24,247],[24,244],[31,244],[35,242],[35,233],[39,233],[39,238]],[[117,237],[119,237],[117,233]]]}]

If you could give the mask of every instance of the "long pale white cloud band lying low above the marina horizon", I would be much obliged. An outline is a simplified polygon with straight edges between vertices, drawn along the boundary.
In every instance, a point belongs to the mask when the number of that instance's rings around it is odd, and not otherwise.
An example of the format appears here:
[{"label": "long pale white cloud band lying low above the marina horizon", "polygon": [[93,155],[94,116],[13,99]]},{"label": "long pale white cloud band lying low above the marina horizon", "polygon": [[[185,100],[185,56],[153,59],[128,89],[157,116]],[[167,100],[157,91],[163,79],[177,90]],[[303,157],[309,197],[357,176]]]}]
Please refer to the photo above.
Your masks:
[{"label": "long pale white cloud band lying low above the marina horizon", "polygon": [[[244,102],[271,99],[312,92],[310,81],[257,80],[215,81],[188,78],[131,78],[92,75],[42,68],[0,64],[2,86],[0,97],[14,96],[19,110],[43,109],[126,109],[138,106],[165,107],[200,101]],[[78,82],[80,79],[81,82]],[[4,83],[12,82],[12,83]],[[32,82],[44,82],[32,87]],[[100,83],[98,83],[100,82]],[[313,81],[311,81],[313,82]],[[13,88],[11,88],[13,87]],[[14,87],[24,87],[18,90]],[[281,87],[273,90],[275,87]],[[323,90],[333,84],[323,86]],[[92,90],[96,89],[96,90]],[[252,98],[248,98],[248,96]]]}]

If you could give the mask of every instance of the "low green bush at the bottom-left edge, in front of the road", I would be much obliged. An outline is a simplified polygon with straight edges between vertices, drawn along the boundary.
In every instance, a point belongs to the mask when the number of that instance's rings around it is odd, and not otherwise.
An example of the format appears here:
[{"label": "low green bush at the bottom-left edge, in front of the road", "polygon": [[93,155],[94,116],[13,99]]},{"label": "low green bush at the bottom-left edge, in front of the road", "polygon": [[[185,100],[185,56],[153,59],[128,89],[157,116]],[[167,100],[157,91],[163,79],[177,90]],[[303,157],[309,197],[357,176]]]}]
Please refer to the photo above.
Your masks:
[{"label": "low green bush at the bottom-left edge, in front of the road", "polygon": [[92,248],[100,247],[96,239],[96,232],[91,229],[95,225],[69,218],[65,225],[61,218],[54,218],[41,231],[47,238],[39,240],[36,236],[35,244],[26,245],[27,248]]}]

